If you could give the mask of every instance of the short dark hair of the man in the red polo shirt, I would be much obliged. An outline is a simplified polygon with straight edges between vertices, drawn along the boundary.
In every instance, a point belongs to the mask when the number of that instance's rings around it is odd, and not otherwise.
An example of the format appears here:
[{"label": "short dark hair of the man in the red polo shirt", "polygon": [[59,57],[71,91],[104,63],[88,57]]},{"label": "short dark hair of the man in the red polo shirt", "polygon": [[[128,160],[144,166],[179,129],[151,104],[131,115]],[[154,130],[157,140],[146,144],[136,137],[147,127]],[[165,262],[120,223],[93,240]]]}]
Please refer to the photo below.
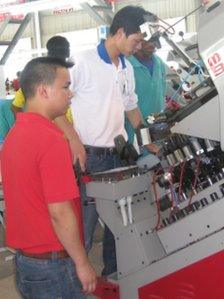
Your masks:
[{"label": "short dark hair of the man in the red polo shirt", "polygon": [[27,63],[21,73],[20,86],[24,97],[29,99],[36,93],[39,84],[52,84],[58,68],[69,68],[66,61],[53,57],[38,57]]}]

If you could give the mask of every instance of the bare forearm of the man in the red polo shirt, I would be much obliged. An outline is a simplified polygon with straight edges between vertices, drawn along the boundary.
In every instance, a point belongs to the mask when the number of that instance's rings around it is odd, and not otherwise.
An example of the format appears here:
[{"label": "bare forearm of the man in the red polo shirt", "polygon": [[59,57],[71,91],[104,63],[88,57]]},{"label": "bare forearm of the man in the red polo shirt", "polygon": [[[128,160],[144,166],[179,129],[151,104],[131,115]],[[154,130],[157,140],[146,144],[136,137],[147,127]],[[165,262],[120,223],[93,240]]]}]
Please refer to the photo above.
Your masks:
[{"label": "bare forearm of the man in the red polo shirt", "polygon": [[88,263],[82,244],[79,226],[72,209],[72,203],[66,202],[60,209],[50,209],[54,231],[77,267]]}]

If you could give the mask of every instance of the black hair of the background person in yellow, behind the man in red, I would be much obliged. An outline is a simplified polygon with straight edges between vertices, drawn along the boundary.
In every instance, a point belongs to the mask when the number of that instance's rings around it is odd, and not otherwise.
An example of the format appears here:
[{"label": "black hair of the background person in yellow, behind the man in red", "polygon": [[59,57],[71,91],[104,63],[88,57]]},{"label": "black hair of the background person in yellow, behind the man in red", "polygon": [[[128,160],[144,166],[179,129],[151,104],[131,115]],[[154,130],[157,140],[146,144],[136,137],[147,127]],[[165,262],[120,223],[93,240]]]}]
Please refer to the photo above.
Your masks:
[{"label": "black hair of the background person in yellow, behind the man in red", "polygon": [[70,56],[70,45],[68,40],[60,35],[51,37],[46,44],[47,56],[66,60]]}]

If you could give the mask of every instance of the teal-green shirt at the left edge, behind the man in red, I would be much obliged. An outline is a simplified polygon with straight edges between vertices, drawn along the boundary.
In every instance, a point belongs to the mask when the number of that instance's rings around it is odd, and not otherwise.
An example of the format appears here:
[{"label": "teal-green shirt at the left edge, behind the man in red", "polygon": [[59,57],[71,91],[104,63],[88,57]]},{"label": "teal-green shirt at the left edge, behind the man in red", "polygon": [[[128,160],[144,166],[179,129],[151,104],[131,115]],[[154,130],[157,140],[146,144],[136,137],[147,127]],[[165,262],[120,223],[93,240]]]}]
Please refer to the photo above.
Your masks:
[{"label": "teal-green shirt at the left edge, behind the man in red", "polygon": [[11,100],[0,100],[0,139],[5,139],[5,136],[15,122],[11,106]]}]

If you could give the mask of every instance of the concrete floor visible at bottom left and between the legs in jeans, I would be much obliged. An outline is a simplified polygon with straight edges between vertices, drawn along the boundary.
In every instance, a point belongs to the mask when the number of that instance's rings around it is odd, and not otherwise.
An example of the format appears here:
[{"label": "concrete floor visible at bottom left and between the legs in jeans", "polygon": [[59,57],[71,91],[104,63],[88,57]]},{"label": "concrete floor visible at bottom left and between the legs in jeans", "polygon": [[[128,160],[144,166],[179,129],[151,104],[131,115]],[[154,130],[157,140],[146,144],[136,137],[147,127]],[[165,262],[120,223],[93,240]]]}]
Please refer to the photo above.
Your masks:
[{"label": "concrete floor visible at bottom left and between the legs in jeans", "polygon": [[[90,252],[90,260],[97,271],[102,270],[102,228],[98,225],[94,245]],[[3,248],[4,246],[4,230],[0,224],[0,298],[1,299],[21,299],[15,287],[13,253]],[[88,298],[96,298],[88,296]]]}]

